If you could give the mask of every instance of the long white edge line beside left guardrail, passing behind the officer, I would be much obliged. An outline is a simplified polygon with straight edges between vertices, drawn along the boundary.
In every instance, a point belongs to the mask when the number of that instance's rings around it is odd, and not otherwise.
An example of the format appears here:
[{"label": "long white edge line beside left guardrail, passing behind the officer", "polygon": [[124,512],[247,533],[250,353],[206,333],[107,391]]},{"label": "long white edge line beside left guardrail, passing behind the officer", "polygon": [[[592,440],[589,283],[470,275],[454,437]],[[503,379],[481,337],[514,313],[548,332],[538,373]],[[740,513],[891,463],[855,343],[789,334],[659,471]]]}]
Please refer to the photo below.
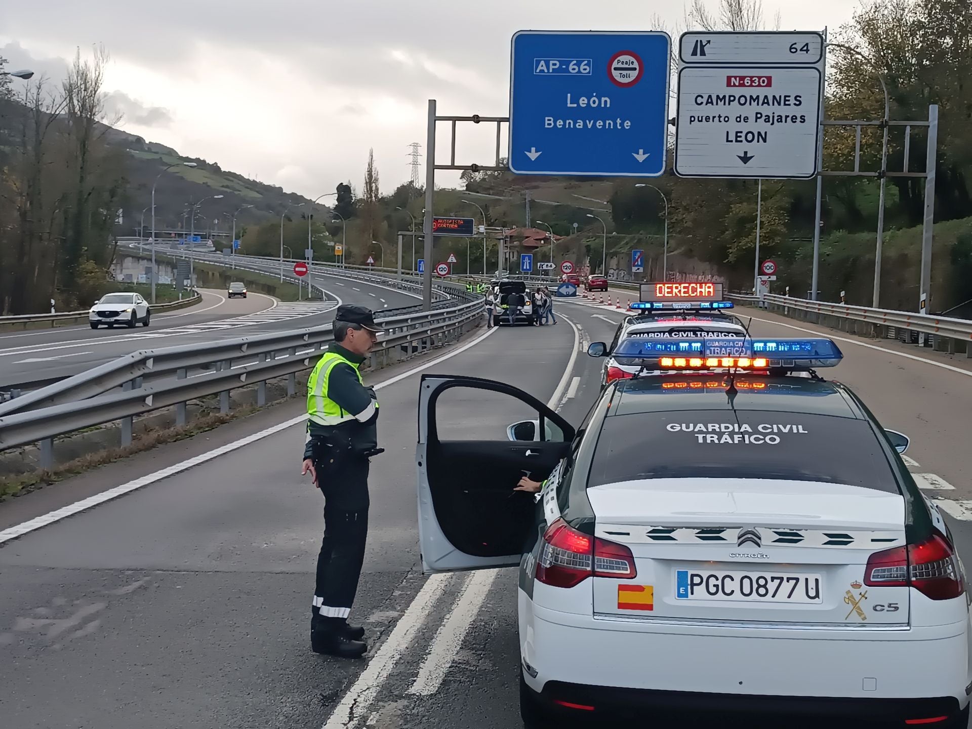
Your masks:
[{"label": "long white edge line beside left guardrail, passing behind the officer", "polygon": [[[495,331],[496,330],[486,330],[485,333],[477,336],[468,344],[463,345],[462,347],[456,349],[455,351],[448,352],[442,355],[441,357],[438,357],[424,364],[419,364],[418,366],[412,367],[411,369],[402,372],[401,374],[398,374],[394,377],[390,377],[389,379],[384,380],[383,382],[379,382],[374,386],[374,389],[380,390],[384,387],[388,387],[389,385],[394,385],[396,382],[403,380],[405,377],[410,377],[411,375],[417,374],[418,372],[422,372],[428,369],[429,367],[433,367],[436,364],[452,359],[456,355],[462,354],[470,347],[474,347],[476,344],[481,342],[483,339],[485,339],[487,336],[494,333]],[[38,530],[41,527],[46,527],[47,525],[52,524],[56,521],[60,521],[61,519],[66,519],[68,516],[73,516],[74,514],[80,513],[82,511],[86,511],[87,509],[93,506],[97,506],[100,503],[110,502],[113,499],[117,499],[120,496],[129,494],[132,491],[142,488],[143,486],[148,486],[150,483],[156,483],[156,481],[160,481],[163,478],[167,478],[168,476],[175,475],[176,473],[181,473],[182,471],[189,470],[194,466],[199,466],[200,464],[204,464],[208,461],[212,461],[214,458],[219,458],[220,456],[226,455],[226,453],[231,453],[237,448],[242,448],[246,445],[250,445],[251,443],[257,442],[258,440],[262,440],[265,437],[269,437],[270,435],[280,433],[281,431],[285,431],[288,428],[291,428],[295,425],[299,425],[306,419],[307,419],[306,415],[300,415],[296,418],[291,418],[290,420],[287,420],[283,423],[279,423],[275,426],[262,430],[260,431],[260,433],[247,435],[246,437],[240,438],[239,440],[236,440],[232,443],[227,443],[226,445],[220,446],[219,448],[198,455],[195,458],[191,458],[189,461],[184,461],[181,464],[170,466],[167,469],[156,470],[153,473],[148,473],[140,478],[136,478],[133,481],[128,481],[127,483],[123,483],[121,484],[121,486],[116,486],[114,489],[103,491],[100,494],[95,494],[94,496],[88,497],[87,499],[83,499],[80,502],[70,503],[67,506],[56,509],[55,511],[51,511],[47,514],[44,514],[43,516],[38,516],[34,519],[30,519],[29,521],[25,521],[21,524],[17,524],[13,527],[10,527],[9,529],[5,529],[2,532],[0,532],[0,544],[4,544],[5,542],[10,541],[11,539],[15,539],[17,537],[22,537],[25,534],[29,534],[30,532]]]}]

